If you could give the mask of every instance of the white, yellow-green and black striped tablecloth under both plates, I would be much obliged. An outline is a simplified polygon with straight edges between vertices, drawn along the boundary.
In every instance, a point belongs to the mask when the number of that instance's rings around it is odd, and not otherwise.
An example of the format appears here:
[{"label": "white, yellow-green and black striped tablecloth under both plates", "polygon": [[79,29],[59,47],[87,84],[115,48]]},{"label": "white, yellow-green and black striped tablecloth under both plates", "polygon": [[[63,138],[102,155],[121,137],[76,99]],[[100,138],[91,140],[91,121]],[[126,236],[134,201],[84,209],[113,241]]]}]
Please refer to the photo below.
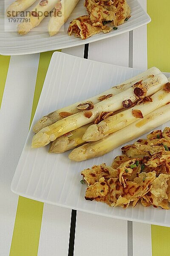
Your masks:
[{"label": "white, yellow-green and black striped tablecloth under both plates", "polygon": [[[152,18],[147,29],[62,52],[170,72],[170,1],[139,2]],[[0,256],[169,255],[170,228],[71,212],[10,191],[52,53],[0,56]]]}]

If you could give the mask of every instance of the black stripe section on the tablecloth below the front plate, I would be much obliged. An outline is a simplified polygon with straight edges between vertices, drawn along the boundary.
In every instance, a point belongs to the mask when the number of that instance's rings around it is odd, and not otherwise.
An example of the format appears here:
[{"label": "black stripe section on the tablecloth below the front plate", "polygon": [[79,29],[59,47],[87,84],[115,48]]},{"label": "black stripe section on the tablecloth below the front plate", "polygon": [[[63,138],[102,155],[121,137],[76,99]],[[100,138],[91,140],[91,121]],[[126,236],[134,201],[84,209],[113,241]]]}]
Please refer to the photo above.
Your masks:
[{"label": "black stripe section on the tablecloth below the front plate", "polygon": [[77,210],[71,210],[70,238],[68,246],[68,256],[74,256],[74,240],[76,231]]}]

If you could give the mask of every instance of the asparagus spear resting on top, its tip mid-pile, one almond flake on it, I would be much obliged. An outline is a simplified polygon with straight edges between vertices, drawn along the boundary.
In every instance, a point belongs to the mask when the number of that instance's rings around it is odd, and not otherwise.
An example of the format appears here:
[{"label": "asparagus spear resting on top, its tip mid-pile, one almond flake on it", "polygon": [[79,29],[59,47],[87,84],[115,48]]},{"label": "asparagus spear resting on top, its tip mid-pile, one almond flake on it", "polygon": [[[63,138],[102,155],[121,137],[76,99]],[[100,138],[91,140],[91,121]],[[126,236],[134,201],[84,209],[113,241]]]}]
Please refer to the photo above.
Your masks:
[{"label": "asparagus spear resting on top, its tip mid-pile, one almond flake on it", "polygon": [[130,125],[132,122],[135,122],[137,118],[142,118],[142,116],[146,116],[156,108],[170,102],[170,93],[167,93],[164,89],[161,89],[153,94],[153,96],[151,96],[148,100],[151,100],[152,102],[142,102],[140,105],[136,105],[133,108],[117,113],[114,116],[109,116],[105,120],[99,122],[99,124],[89,126],[85,131],[82,140],[102,140],[103,137],[107,136],[108,134]]}]

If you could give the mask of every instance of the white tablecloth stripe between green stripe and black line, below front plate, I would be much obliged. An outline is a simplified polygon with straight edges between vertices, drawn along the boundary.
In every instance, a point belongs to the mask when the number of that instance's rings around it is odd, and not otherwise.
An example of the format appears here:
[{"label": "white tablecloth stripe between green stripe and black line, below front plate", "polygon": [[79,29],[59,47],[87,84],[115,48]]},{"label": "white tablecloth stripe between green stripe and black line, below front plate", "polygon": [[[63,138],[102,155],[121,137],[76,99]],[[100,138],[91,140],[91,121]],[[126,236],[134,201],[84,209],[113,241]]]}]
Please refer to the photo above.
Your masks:
[{"label": "white tablecloth stripe between green stripe and black line, below front plate", "polygon": [[44,204],[38,256],[67,256],[71,209]]}]

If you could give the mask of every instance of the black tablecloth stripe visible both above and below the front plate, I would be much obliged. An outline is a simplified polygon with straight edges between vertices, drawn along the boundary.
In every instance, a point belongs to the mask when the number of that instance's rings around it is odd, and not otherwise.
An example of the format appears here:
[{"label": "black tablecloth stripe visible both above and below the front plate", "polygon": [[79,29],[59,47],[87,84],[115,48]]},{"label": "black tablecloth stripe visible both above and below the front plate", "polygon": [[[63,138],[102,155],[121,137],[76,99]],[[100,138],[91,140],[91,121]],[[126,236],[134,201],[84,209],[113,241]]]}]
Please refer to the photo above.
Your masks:
[{"label": "black tablecloth stripe visible both above and below the front plate", "polygon": [[[86,58],[86,59],[88,59],[88,47],[89,47],[89,44],[85,44],[84,58]],[[69,245],[68,245],[68,256],[74,256],[76,218],[77,218],[77,210],[72,209],[71,210],[71,223],[70,223],[70,237],[69,237]]]}]

